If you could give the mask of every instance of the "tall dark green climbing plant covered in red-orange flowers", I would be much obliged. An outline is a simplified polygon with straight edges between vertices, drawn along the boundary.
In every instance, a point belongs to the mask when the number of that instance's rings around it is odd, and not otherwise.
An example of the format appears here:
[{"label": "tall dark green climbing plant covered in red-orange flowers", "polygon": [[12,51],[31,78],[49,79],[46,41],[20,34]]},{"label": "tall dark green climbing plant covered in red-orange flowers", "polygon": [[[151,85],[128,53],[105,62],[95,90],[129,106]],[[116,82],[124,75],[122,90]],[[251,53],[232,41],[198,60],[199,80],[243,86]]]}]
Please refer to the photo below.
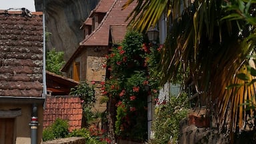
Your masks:
[{"label": "tall dark green climbing plant covered in red-orange flowers", "polygon": [[[103,85],[103,95],[116,101],[115,135],[133,141],[147,139],[147,97],[158,88],[153,69],[159,61],[155,55],[160,53],[151,53],[157,46],[150,47],[143,41],[141,33],[128,31],[123,43],[112,47],[107,55],[110,77]],[[153,93],[146,89],[149,87]]]}]

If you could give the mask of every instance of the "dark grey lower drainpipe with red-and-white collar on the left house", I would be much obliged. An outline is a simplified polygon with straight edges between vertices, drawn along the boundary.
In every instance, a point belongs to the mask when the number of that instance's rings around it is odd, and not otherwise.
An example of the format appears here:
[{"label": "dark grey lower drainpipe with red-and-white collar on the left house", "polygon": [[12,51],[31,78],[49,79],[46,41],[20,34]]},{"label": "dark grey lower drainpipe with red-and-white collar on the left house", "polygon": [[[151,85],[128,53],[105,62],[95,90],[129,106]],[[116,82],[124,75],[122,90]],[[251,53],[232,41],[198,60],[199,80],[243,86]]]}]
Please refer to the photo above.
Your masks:
[{"label": "dark grey lower drainpipe with red-and-white collar on the left house", "polygon": [[32,105],[31,122],[29,123],[31,129],[31,144],[37,144],[37,104]]}]

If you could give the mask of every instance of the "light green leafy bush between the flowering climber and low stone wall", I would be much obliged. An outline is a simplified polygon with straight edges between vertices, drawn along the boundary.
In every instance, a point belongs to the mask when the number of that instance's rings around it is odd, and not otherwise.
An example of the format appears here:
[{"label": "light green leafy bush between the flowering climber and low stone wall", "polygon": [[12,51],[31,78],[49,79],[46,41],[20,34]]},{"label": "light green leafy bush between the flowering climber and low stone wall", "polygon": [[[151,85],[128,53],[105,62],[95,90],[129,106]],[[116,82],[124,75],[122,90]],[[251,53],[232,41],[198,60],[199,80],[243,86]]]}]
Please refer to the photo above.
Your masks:
[{"label": "light green leafy bush between the flowering climber and low stone wall", "polygon": [[179,123],[181,119],[187,117],[188,102],[187,95],[182,93],[179,97],[172,96],[166,104],[156,107],[152,126],[154,138],[151,139],[151,143],[168,143],[170,137],[176,143],[179,139]]}]

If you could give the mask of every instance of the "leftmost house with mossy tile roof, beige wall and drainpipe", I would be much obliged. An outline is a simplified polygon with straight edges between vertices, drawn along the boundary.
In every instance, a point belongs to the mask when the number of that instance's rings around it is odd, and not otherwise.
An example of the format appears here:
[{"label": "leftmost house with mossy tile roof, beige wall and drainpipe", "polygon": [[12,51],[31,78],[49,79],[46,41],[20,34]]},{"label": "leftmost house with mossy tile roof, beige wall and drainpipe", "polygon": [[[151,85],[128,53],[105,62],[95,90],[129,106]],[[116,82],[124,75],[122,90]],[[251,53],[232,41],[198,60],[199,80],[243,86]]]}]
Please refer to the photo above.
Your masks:
[{"label": "leftmost house with mossy tile roof, beige wall and drainpipe", "polygon": [[0,143],[41,143],[43,13],[0,11]]}]

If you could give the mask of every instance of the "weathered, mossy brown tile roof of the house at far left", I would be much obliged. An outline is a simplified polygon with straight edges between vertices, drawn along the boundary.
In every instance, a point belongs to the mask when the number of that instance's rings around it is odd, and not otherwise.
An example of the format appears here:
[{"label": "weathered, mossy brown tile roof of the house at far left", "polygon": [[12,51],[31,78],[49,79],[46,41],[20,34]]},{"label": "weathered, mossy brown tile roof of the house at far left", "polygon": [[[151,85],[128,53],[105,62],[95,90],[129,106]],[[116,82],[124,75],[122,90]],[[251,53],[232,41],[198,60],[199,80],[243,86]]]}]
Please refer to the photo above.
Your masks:
[{"label": "weathered, mossy brown tile roof of the house at far left", "polygon": [[42,14],[0,10],[0,96],[42,97]]}]

